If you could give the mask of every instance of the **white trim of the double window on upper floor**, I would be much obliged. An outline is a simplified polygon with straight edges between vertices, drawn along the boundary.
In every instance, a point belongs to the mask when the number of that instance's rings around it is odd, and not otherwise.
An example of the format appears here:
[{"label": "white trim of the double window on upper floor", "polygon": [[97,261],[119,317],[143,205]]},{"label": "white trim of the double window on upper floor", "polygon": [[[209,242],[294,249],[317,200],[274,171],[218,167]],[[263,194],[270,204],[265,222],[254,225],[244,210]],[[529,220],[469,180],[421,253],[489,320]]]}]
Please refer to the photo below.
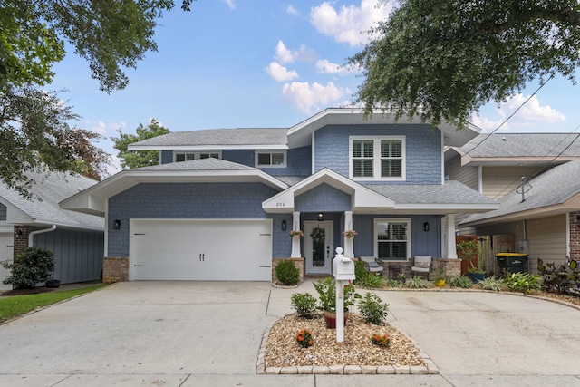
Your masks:
[{"label": "white trim of the double window on upper floor", "polygon": [[[372,147],[372,173],[373,176],[353,176],[353,141],[373,140]],[[381,140],[401,140],[401,177],[381,177]],[[357,181],[404,181],[407,179],[407,138],[405,136],[349,136],[348,141],[348,170],[349,178]]]}]

